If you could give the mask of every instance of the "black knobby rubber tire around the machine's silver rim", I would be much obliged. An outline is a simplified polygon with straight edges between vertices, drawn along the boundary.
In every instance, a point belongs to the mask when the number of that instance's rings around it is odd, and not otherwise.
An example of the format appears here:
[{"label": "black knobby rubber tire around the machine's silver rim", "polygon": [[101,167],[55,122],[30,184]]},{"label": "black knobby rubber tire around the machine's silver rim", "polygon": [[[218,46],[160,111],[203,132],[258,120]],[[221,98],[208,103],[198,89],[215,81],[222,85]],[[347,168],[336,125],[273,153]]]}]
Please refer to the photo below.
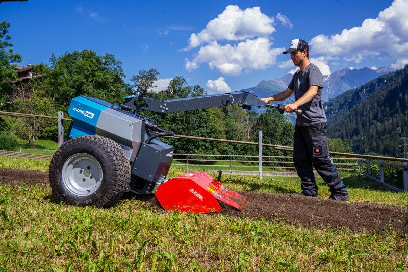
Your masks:
[{"label": "black knobby rubber tire around the machine's silver rim", "polygon": [[[86,196],[73,194],[64,184],[62,177],[65,162],[78,153],[93,156],[103,173],[99,187]],[[113,140],[101,136],[81,136],[68,140],[57,150],[49,165],[49,183],[53,195],[67,204],[112,206],[123,195],[130,180],[131,167],[122,148]]]}]

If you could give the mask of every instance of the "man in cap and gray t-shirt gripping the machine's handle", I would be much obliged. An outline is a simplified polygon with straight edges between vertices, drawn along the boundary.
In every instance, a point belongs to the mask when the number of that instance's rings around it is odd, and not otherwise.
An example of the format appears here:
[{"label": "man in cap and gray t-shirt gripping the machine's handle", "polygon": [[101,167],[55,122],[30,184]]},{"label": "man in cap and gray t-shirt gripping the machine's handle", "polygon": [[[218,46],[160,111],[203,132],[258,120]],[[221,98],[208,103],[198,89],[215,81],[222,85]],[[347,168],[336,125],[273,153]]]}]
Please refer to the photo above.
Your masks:
[{"label": "man in cap and gray t-shirt gripping the machine's handle", "polygon": [[324,113],[321,95],[323,76],[319,68],[309,61],[309,45],[304,40],[292,40],[288,50],[297,70],[288,88],[271,97],[263,98],[265,102],[282,101],[295,93],[295,102],[285,106],[286,112],[299,108],[302,114],[297,116],[293,135],[293,163],[302,181],[302,192],[298,195],[318,197],[318,187],[312,165],[330,188],[330,199],[348,200],[349,194],[333,160],[328,153],[326,138],[326,114]]}]

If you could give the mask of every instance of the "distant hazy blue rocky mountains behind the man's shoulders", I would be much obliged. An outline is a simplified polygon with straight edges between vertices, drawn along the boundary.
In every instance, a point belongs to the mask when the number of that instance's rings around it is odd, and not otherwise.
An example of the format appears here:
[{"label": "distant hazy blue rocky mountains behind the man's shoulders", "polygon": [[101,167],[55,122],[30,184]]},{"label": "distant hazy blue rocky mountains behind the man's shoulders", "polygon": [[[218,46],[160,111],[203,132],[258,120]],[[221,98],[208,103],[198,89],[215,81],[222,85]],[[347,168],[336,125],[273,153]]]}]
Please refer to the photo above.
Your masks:
[{"label": "distant hazy blue rocky mountains behind the man's shoulders", "polygon": [[[346,68],[335,71],[331,73],[331,75],[324,75],[322,101],[327,102],[329,99],[334,98],[349,89],[361,86],[372,79],[378,78],[381,75],[385,75],[386,73],[393,71],[395,71],[395,69],[388,67],[381,67],[377,69],[370,69],[367,67],[361,69]],[[273,80],[263,80],[258,83],[257,86],[242,89],[241,91],[250,92],[258,97],[272,96],[284,91],[288,87],[292,77],[293,75],[291,73],[287,73],[280,79],[275,78]],[[293,95],[283,103],[287,104],[292,102],[294,102]]]}]

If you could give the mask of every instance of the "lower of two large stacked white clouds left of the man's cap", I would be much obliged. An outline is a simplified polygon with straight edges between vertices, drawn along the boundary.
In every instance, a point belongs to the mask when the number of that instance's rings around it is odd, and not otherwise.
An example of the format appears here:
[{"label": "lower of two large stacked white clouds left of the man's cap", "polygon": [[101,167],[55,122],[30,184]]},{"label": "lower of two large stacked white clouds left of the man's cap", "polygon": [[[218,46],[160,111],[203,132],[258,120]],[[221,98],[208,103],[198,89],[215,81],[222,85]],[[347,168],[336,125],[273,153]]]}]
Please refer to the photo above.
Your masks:
[{"label": "lower of two large stacked white clouds left of the man's cap", "polygon": [[198,67],[198,63],[208,63],[210,69],[217,68],[223,75],[240,75],[242,71],[262,70],[276,63],[276,56],[284,48],[271,48],[267,38],[246,40],[237,45],[220,45],[213,41],[202,46],[195,58],[186,61],[186,69]]}]

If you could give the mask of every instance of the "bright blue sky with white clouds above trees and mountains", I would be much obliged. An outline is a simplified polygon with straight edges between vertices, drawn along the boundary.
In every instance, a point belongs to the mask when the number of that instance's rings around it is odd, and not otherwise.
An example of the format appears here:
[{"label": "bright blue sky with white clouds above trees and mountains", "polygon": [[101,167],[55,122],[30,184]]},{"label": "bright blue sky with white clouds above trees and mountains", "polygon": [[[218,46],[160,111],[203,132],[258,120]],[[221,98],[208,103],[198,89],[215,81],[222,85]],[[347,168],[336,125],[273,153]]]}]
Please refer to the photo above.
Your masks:
[{"label": "bright blue sky with white clouds above trees and mountains", "polygon": [[309,42],[323,73],[408,63],[407,0],[395,1],[39,1],[2,2],[21,64],[91,49],[122,62],[126,81],[156,68],[209,93],[280,78],[283,55]]}]

